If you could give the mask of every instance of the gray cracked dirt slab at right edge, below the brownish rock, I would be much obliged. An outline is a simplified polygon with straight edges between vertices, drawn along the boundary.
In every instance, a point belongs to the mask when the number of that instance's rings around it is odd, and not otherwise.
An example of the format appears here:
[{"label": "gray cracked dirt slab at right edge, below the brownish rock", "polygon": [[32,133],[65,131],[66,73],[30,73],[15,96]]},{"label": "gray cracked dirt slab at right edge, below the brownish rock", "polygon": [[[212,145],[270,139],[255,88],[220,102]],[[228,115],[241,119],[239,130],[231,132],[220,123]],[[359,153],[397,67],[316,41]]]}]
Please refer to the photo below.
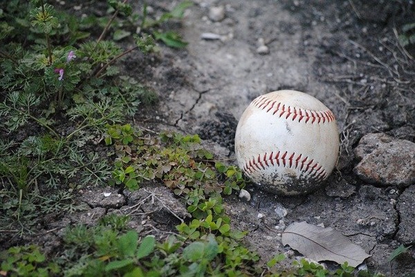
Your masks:
[{"label": "gray cracked dirt slab at right edge, below the brownish rock", "polygon": [[398,198],[396,209],[400,213],[400,223],[396,239],[404,245],[415,242],[415,186],[407,188]]}]

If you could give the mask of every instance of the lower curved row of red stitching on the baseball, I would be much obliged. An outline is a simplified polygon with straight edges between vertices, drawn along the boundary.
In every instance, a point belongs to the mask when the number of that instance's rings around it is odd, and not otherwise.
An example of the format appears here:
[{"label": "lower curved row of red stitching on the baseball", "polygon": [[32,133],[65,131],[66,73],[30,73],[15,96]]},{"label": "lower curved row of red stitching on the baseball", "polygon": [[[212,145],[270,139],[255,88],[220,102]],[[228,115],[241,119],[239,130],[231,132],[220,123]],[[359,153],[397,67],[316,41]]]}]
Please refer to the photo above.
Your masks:
[{"label": "lower curved row of red stitching on the baseball", "polygon": [[288,151],[277,151],[275,155],[274,151],[271,151],[269,155],[268,153],[264,153],[264,155],[259,154],[257,157],[252,157],[252,159],[243,166],[243,171],[249,175],[255,171],[261,171],[265,170],[267,167],[275,166],[275,164],[290,169],[298,169],[299,167],[299,171],[302,171],[306,175],[317,180],[324,180],[327,176],[323,166],[318,164],[318,162],[315,162],[313,159],[308,160],[308,157],[303,157],[302,154],[296,155],[295,153],[288,153]]}]

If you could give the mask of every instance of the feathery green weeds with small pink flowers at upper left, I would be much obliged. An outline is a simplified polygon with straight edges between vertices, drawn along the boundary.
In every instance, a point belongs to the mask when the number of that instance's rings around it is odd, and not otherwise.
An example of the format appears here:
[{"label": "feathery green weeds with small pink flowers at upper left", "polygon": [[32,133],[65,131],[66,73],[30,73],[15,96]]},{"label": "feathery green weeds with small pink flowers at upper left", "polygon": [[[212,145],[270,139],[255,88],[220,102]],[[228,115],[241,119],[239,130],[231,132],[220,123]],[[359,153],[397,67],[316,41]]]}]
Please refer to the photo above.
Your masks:
[{"label": "feathery green weeds with small pink flowers at upper left", "polygon": [[[43,0],[1,2],[0,128],[10,140],[0,142],[0,222],[30,231],[39,213],[82,209],[72,191],[111,178],[107,155],[87,153],[86,146],[98,144],[106,126],[135,115],[140,104],[157,101],[116,62],[133,50],[156,51],[155,30],[167,32],[162,24],[181,19],[189,6],[180,3],[151,21],[146,8],[133,15],[126,1],[109,1],[112,15],[102,18],[77,18]],[[138,35],[127,30],[138,26]],[[123,49],[117,41],[127,38],[136,46]]]}]

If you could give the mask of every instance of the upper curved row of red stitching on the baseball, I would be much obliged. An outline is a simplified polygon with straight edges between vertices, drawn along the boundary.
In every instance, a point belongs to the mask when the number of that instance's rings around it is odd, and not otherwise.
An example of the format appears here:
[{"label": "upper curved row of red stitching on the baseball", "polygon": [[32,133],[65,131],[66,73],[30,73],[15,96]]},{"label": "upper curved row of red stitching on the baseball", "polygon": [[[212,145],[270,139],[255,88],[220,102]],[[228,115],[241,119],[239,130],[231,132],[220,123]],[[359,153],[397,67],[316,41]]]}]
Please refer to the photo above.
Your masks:
[{"label": "upper curved row of red stitching on the baseball", "polygon": [[290,117],[292,117],[291,120],[293,121],[297,118],[298,122],[305,120],[305,123],[307,123],[309,120],[311,120],[311,124],[324,124],[326,122],[333,122],[335,120],[335,117],[330,110],[310,111],[298,107],[286,106],[281,102],[268,99],[264,95],[257,97],[257,99],[252,102],[252,105],[261,110],[265,110],[266,113],[272,111],[273,115],[277,114],[278,117],[285,115],[286,120],[288,120]]}]

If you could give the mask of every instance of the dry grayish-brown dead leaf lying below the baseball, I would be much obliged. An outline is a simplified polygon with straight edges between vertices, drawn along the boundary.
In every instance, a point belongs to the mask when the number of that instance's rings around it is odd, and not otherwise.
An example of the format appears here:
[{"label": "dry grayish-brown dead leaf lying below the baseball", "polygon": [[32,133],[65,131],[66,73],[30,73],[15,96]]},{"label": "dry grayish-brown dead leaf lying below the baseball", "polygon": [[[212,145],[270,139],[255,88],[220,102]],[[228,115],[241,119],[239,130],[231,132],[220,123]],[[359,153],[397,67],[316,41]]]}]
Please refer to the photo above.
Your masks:
[{"label": "dry grayish-brown dead leaf lying below the baseball", "polygon": [[340,265],[347,262],[351,267],[357,267],[370,257],[362,247],[353,244],[339,231],[305,221],[289,225],[282,233],[282,243],[318,262],[331,260]]}]

